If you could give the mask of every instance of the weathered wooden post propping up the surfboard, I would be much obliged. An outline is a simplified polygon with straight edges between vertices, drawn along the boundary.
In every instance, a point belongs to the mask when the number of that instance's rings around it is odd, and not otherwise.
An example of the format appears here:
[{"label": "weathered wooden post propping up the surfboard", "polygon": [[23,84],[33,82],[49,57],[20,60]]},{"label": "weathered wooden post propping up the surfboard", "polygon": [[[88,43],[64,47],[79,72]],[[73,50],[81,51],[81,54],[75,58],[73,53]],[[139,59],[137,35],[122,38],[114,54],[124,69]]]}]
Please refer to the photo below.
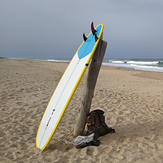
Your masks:
[{"label": "weathered wooden post propping up the surfboard", "polygon": [[86,124],[86,117],[90,112],[91,102],[94,95],[94,89],[98,77],[99,70],[106,51],[107,42],[100,40],[97,49],[92,57],[89,67],[88,76],[84,85],[83,96],[79,105],[79,114],[76,120],[74,136],[83,135]]}]

